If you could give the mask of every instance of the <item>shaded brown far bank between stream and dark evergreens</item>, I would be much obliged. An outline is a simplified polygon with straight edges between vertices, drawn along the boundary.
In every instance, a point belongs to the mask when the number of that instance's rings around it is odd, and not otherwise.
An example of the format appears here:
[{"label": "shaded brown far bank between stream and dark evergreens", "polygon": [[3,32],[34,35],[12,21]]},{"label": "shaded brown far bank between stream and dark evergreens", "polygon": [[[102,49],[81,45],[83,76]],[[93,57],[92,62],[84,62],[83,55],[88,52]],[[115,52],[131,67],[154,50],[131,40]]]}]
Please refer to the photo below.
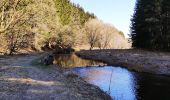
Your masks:
[{"label": "shaded brown far bank between stream and dark evergreens", "polygon": [[82,50],[79,57],[102,61],[109,65],[123,66],[137,72],[170,76],[170,53],[145,50]]}]

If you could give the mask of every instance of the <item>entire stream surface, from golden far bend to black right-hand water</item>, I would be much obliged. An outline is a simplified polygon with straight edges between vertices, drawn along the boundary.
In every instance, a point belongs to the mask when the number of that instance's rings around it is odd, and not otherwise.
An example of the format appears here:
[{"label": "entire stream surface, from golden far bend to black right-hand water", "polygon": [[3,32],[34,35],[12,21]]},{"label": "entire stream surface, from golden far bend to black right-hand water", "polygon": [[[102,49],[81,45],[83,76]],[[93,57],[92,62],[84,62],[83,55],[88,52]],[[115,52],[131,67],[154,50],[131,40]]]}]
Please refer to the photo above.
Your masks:
[{"label": "entire stream surface, from golden far bend to black right-hand water", "polygon": [[[170,77],[136,73],[125,68],[83,67],[102,63],[84,60],[75,55],[60,55],[56,63],[73,71],[87,82],[99,86],[114,100],[170,100]],[[78,67],[78,68],[77,68]]]}]

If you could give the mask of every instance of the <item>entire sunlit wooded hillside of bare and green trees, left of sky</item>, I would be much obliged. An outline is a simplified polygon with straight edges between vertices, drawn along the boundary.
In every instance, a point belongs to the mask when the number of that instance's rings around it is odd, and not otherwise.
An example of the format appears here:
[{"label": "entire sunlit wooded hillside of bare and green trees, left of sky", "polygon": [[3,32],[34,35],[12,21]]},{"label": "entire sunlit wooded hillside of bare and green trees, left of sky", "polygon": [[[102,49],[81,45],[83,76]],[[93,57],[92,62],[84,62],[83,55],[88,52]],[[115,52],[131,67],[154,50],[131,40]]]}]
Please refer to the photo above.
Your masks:
[{"label": "entire sunlit wooded hillside of bare and green trees, left of sky", "polygon": [[[93,20],[102,27],[95,25]],[[91,22],[94,22],[93,27],[89,27]],[[97,34],[93,28],[102,33],[102,37],[100,40],[97,36],[98,41],[91,45],[89,34]],[[100,32],[99,28],[105,31],[100,29],[104,31]],[[113,35],[115,40],[123,37],[123,33],[69,0],[0,0],[1,53],[13,54],[25,48],[40,51],[82,45],[90,45],[92,49],[99,47],[99,40],[103,41],[103,37],[109,37],[111,29],[113,34],[119,34]],[[108,41],[105,42],[112,45],[110,39]],[[106,43],[100,43],[100,48],[108,48]]]}]

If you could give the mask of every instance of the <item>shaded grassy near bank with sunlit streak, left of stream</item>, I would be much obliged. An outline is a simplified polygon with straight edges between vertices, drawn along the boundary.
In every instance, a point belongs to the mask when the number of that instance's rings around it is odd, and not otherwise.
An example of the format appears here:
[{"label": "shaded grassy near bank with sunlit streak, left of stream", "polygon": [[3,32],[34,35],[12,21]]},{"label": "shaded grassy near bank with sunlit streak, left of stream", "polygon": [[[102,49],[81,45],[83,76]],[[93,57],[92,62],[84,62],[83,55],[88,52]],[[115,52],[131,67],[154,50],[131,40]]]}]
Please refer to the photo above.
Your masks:
[{"label": "shaded grassy near bank with sunlit streak, left of stream", "polygon": [[31,65],[39,55],[0,57],[0,100],[110,100],[69,71]]}]

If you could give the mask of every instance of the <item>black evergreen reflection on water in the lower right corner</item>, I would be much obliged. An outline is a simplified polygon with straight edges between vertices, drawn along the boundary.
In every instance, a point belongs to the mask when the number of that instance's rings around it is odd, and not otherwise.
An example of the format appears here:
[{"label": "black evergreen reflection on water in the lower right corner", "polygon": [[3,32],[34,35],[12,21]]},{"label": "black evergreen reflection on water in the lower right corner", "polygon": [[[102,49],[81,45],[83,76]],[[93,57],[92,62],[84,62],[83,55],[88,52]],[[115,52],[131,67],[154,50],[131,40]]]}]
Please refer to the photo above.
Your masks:
[{"label": "black evergreen reflection on water in the lower right corner", "polygon": [[170,100],[170,77],[137,73],[140,100]]}]

